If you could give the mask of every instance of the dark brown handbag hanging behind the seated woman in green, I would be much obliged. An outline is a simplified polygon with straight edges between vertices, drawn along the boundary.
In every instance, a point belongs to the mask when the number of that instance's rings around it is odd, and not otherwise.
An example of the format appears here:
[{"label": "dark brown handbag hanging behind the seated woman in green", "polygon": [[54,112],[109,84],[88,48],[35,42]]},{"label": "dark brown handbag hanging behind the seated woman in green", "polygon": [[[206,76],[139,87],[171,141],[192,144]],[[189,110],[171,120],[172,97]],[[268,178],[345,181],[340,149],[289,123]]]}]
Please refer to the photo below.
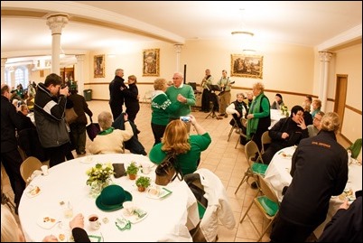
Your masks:
[{"label": "dark brown handbag hanging behind the seated woman in green", "polygon": [[166,154],[162,163],[156,167],[155,173],[155,184],[157,185],[167,185],[169,182],[174,181],[176,177],[180,181],[183,179],[183,174],[179,164],[177,164],[177,157],[174,153]]}]

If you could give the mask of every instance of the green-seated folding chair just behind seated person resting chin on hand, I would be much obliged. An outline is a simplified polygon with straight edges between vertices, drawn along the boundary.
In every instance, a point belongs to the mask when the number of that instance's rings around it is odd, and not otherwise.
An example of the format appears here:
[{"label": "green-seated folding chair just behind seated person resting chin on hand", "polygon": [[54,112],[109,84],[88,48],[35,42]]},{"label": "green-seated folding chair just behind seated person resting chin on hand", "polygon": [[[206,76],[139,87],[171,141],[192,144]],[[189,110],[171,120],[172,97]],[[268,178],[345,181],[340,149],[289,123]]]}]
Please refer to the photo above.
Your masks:
[{"label": "green-seated folding chair just behind seated person resting chin on hand", "polygon": [[[252,159],[256,157],[256,154],[258,154],[258,158],[256,159],[256,162],[254,162],[254,161],[252,161]],[[236,189],[235,194],[238,192],[239,187],[244,182],[248,182],[249,177],[252,176],[256,179],[257,174],[264,175],[265,171],[267,170],[267,164],[259,163],[259,162],[263,162],[263,161],[262,161],[261,153],[258,150],[258,146],[256,145],[256,143],[254,141],[250,140],[245,145],[245,155],[246,155],[248,167],[247,167],[247,170],[246,170],[244,176],[242,177],[241,182],[239,182],[239,185]]]}]

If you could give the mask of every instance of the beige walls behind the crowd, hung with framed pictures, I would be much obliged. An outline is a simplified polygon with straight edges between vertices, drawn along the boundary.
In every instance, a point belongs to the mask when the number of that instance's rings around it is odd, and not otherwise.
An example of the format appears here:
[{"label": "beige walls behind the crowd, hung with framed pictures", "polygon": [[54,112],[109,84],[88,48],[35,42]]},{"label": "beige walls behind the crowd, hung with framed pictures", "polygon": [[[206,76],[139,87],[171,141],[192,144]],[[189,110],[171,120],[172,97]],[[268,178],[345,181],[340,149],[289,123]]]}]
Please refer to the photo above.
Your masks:
[{"label": "beige walls behind the crowd, hung with framed pictures", "polygon": [[[108,100],[108,83],[114,78],[117,68],[125,70],[125,79],[128,75],[134,74],[139,82],[138,88],[141,97],[146,90],[153,89],[152,83],[156,77],[142,76],[142,50],[160,49],[160,77],[171,80],[172,73],[177,70],[176,51],[174,46],[164,42],[150,42],[144,45],[128,46],[117,50],[116,57],[109,58],[107,53],[115,53],[110,50],[90,52],[88,61],[85,61],[85,72],[87,72],[90,83],[85,89],[93,90],[93,98]],[[285,104],[291,108],[294,105],[302,104],[303,96],[310,94],[318,97],[321,79],[321,61],[319,52],[312,48],[288,45],[281,43],[256,43],[257,55],[264,56],[263,79],[247,79],[231,77],[236,80],[232,89],[232,98],[237,92],[250,89],[256,81],[265,83],[266,95],[272,102],[275,93],[280,92],[284,97]],[[335,77],[336,74],[349,75],[349,86],[347,105],[354,107],[361,112],[361,44],[336,51],[330,61],[328,98],[335,98]],[[215,80],[220,78],[221,70],[228,70],[230,74],[230,55],[240,54],[239,44],[236,42],[217,41],[188,41],[181,49],[180,70],[183,71],[184,64],[187,65],[186,80],[200,84],[204,70],[209,68]],[[93,78],[93,56],[106,54],[106,77]],[[87,63],[87,64],[86,64]],[[95,85],[95,83],[104,83]],[[287,93],[285,93],[287,92]],[[290,94],[290,93],[293,94]],[[332,111],[333,102],[328,101],[324,111]],[[342,134],[350,141],[361,137],[361,115],[346,108]]]}]

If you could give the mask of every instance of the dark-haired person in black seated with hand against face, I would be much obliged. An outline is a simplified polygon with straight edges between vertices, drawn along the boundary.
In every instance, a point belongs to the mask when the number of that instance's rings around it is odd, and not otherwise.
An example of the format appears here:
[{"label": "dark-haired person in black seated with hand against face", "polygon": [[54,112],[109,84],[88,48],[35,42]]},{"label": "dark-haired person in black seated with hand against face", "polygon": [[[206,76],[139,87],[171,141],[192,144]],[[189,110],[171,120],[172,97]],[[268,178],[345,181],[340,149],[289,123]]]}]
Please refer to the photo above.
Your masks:
[{"label": "dark-haired person in black seated with hand against face", "polygon": [[303,108],[301,106],[294,106],[290,114],[290,117],[281,118],[268,132],[268,135],[272,138],[272,143],[268,146],[265,153],[262,154],[265,164],[270,164],[275,153],[280,149],[298,145],[302,138],[309,137],[308,129],[306,129],[303,119]]}]

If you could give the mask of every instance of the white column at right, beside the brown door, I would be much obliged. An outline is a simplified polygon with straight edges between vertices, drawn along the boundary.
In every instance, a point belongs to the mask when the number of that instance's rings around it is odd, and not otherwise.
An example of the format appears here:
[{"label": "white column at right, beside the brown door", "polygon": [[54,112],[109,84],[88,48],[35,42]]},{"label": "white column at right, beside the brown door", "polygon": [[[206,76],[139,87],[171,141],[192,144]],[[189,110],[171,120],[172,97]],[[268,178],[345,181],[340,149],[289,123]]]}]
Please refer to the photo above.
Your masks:
[{"label": "white column at right, beside the brown door", "polygon": [[321,110],[325,110],[328,100],[328,78],[329,63],[332,53],[329,51],[319,51],[321,60],[321,89],[319,90],[319,98],[321,99]]}]

